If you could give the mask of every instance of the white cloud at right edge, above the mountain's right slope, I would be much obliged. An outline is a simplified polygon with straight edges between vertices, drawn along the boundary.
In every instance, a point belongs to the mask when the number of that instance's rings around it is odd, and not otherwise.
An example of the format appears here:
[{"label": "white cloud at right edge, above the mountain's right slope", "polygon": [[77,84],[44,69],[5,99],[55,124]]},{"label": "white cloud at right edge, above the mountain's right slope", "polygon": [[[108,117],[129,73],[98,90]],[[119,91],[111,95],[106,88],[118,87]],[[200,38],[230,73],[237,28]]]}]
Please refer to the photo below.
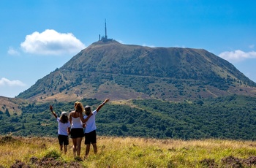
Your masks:
[{"label": "white cloud at right edge, above the mountain's right slope", "polygon": [[219,57],[224,58],[227,61],[230,62],[238,62],[243,61],[247,58],[256,58],[256,52],[250,51],[250,52],[244,52],[242,50],[235,50],[235,51],[225,51],[219,54]]}]

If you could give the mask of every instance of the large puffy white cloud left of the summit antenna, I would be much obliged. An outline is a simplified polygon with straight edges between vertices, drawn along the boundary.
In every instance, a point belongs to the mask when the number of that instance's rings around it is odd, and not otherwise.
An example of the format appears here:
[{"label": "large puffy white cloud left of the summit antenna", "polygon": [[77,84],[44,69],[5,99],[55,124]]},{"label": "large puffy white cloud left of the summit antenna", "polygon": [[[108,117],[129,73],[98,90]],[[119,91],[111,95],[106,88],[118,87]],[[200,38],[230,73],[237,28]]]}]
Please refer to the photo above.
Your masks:
[{"label": "large puffy white cloud left of the summit antenna", "polygon": [[73,34],[61,34],[53,29],[46,29],[42,33],[35,31],[27,35],[20,47],[26,53],[39,55],[61,55],[78,53],[86,46]]}]

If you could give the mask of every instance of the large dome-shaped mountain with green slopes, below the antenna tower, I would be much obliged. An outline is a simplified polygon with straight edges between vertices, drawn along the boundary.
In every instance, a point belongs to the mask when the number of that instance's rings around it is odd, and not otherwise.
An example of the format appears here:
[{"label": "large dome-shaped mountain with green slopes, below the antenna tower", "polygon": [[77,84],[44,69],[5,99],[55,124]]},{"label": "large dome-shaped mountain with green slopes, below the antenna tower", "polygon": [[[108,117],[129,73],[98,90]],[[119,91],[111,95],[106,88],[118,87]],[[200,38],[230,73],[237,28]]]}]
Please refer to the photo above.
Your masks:
[{"label": "large dome-shaped mountain with green slopes, below the antenna tower", "polygon": [[189,101],[230,94],[255,96],[255,91],[256,83],[207,50],[123,45],[113,40],[94,42],[17,97],[42,102],[106,97]]}]

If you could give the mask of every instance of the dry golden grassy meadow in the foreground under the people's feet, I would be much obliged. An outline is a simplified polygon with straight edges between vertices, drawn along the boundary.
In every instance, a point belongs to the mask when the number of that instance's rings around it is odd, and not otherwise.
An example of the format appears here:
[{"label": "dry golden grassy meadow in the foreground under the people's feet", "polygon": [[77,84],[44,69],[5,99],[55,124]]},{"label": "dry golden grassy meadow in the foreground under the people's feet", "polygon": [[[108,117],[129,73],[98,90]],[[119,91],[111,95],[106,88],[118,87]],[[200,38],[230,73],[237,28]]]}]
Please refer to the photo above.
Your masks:
[{"label": "dry golden grassy meadow in the foreground under the people's feet", "polygon": [[256,167],[256,142],[236,140],[157,140],[98,137],[89,159],[59,151],[53,137],[0,137],[0,167]]}]

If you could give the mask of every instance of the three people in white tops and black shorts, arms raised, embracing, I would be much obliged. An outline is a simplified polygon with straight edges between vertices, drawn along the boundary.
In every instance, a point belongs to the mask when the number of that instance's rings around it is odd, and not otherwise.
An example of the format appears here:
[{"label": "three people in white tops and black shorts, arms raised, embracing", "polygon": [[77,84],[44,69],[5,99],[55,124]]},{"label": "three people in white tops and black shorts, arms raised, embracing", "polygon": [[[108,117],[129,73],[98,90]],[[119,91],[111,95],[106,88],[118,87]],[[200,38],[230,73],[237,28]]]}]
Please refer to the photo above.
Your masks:
[{"label": "three people in white tops and black shorts, arms raised, embracing", "polygon": [[[109,99],[105,99],[102,104],[99,104],[96,110],[91,111],[90,106],[83,107],[80,102],[75,102],[75,110],[70,112],[69,118],[67,112],[62,112],[58,118],[50,105],[50,111],[53,113],[59,123],[58,139],[60,150],[64,147],[64,153],[67,153],[67,145],[69,145],[69,134],[73,142],[73,154],[75,159],[80,159],[80,149],[83,137],[85,137],[86,156],[89,156],[90,146],[93,145],[94,153],[97,153],[97,138],[96,138],[96,123],[95,116],[99,110],[107,103]],[[86,115],[83,116],[83,112]]]}]

